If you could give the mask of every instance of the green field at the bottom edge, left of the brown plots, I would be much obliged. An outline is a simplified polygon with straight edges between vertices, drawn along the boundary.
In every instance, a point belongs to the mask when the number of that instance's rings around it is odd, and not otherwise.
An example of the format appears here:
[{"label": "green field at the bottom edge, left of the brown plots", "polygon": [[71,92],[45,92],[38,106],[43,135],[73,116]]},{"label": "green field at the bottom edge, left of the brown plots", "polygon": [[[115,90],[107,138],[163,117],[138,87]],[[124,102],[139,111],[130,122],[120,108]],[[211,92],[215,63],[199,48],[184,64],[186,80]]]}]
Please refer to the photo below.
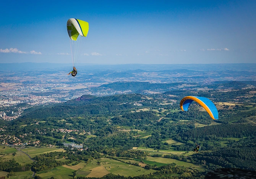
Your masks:
[{"label": "green field at the bottom edge, left of the brown plots", "polygon": [[49,179],[50,177],[54,177],[57,179],[70,179],[73,177],[73,172],[75,170],[70,168],[65,168],[63,166],[58,166],[53,169],[49,169],[46,171],[41,171],[36,173],[36,175],[41,176],[43,179]]}]

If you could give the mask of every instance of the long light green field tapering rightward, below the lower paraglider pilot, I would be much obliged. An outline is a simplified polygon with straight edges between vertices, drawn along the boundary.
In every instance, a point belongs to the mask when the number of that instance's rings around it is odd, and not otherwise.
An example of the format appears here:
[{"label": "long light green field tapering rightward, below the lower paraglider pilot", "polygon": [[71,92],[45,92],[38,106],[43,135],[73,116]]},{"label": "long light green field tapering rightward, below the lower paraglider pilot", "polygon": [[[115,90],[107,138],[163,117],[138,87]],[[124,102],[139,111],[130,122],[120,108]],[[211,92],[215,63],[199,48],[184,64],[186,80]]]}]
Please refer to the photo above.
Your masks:
[{"label": "long light green field tapering rightward, below the lower paraglider pilot", "polygon": [[203,170],[204,169],[203,167],[201,167],[199,165],[194,165],[193,163],[190,163],[190,162],[175,160],[175,159],[172,159],[172,158],[147,157],[147,160],[153,161],[153,162],[156,162],[156,163],[165,163],[165,164],[176,163],[179,166],[191,167],[191,168],[195,168],[195,169],[198,169],[198,170]]}]

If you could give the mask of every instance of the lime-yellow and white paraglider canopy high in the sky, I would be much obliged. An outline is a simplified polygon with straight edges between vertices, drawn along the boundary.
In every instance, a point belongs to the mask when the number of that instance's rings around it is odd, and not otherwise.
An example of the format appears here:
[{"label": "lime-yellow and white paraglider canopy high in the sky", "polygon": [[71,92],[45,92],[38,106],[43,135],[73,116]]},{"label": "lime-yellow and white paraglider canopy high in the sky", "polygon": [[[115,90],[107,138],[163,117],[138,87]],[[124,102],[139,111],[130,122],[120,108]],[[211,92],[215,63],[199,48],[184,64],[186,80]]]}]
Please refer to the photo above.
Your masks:
[{"label": "lime-yellow and white paraglider canopy high in the sky", "polygon": [[71,40],[77,40],[78,35],[86,37],[89,31],[89,23],[79,19],[68,19],[66,23],[68,35]]}]

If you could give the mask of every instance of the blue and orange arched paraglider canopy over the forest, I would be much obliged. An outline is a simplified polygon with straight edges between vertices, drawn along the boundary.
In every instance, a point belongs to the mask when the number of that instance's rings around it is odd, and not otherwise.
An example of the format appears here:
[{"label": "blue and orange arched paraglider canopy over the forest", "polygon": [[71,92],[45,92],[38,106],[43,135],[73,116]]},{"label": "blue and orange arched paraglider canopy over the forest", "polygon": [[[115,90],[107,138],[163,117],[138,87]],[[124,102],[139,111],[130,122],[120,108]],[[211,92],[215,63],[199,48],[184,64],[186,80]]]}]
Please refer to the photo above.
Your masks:
[{"label": "blue and orange arched paraglider canopy over the forest", "polygon": [[190,104],[195,101],[200,104],[211,116],[212,119],[219,119],[219,114],[216,106],[213,102],[206,97],[197,97],[197,96],[186,96],[183,97],[180,101],[180,108],[183,111],[187,111]]}]

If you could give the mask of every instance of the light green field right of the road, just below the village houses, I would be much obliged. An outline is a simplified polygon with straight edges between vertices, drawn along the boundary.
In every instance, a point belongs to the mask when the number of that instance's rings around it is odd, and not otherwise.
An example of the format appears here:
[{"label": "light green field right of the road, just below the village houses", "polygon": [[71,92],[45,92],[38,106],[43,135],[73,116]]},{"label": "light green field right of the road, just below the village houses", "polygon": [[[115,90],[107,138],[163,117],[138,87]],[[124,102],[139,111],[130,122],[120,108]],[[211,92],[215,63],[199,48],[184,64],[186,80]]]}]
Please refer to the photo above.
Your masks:
[{"label": "light green field right of the road, just below the village houses", "polygon": [[40,155],[43,153],[50,153],[50,152],[65,152],[64,149],[55,148],[55,147],[29,147],[26,149],[22,149],[23,152],[28,153],[31,157],[35,157],[36,155]]}]

